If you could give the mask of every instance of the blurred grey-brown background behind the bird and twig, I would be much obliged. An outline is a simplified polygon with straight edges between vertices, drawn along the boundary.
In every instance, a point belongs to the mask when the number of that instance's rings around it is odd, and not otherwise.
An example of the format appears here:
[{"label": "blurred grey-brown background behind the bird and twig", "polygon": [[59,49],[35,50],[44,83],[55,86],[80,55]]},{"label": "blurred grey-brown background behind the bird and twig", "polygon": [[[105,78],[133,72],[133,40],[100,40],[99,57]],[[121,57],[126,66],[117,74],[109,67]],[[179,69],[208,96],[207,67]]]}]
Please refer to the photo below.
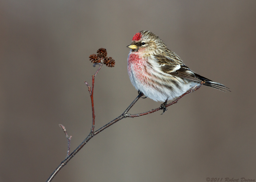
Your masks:
[{"label": "blurred grey-brown background behind the bird and twig", "polygon": [[[256,179],[256,1],[0,1],[0,181],[46,181],[89,134],[89,55],[115,59],[95,79],[96,129],[137,91],[126,46],[150,30],[196,73],[231,89],[201,87],[168,107],[121,120],[92,138],[57,181]],[[140,99],[130,113],[159,107]],[[224,180],[224,179],[223,179]],[[222,180],[222,181],[223,181]]]}]

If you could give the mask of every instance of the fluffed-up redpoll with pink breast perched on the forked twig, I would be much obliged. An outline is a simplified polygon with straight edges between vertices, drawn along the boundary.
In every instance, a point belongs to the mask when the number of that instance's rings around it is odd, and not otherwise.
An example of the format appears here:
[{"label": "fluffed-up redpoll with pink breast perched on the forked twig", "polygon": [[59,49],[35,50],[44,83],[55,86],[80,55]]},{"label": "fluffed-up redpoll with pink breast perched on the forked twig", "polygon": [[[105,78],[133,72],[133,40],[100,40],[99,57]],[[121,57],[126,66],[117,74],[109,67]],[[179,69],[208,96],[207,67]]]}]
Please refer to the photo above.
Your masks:
[{"label": "fluffed-up redpoll with pink breast perched on the forked twig", "polygon": [[174,100],[202,84],[230,91],[223,84],[190,70],[163,40],[150,31],[136,33],[127,47],[131,48],[127,62],[132,85],[146,97],[164,102],[160,106],[163,111],[167,110],[168,100]]}]

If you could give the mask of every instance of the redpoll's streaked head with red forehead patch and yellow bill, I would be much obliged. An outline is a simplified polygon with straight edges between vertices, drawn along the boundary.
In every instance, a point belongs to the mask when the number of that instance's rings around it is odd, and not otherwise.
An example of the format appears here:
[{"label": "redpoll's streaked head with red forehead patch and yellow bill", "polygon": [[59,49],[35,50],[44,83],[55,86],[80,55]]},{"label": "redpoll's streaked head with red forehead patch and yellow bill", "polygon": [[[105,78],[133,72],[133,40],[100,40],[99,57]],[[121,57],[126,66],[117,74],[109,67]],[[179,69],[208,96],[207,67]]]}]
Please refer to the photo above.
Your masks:
[{"label": "redpoll's streaked head with red forehead patch and yellow bill", "polygon": [[131,45],[127,46],[132,52],[143,52],[148,54],[161,54],[167,48],[164,42],[154,33],[140,31],[133,36]]}]

